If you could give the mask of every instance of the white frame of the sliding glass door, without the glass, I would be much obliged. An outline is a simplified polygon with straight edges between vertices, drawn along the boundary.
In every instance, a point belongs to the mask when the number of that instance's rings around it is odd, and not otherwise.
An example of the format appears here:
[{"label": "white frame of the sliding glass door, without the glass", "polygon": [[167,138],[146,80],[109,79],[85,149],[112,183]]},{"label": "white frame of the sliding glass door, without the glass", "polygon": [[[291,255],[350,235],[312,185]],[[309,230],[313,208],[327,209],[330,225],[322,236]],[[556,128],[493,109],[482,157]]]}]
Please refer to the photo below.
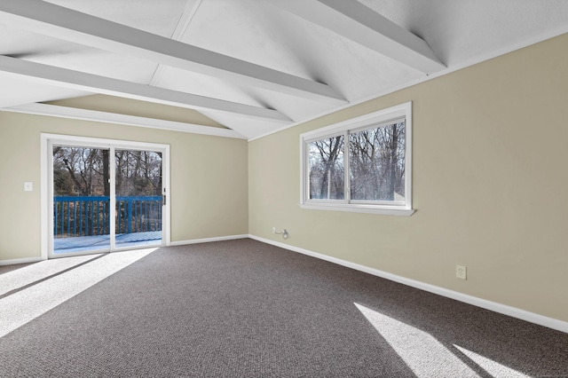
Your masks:
[{"label": "white frame of the sliding glass door, without the glass", "polygon": [[[109,139],[109,138],[90,138],[76,137],[71,135],[41,133],[41,258],[67,257],[83,255],[63,254],[53,255],[53,145],[84,146],[93,148],[107,148],[114,152],[114,149],[157,151],[162,153],[162,187],[165,189],[165,205],[162,208],[162,246],[170,245],[170,145],[136,142],[131,140]],[[114,156],[114,154],[112,154]],[[114,161],[114,159],[113,159]],[[110,176],[114,177],[114,164],[110,167]],[[114,196],[114,185],[111,185],[111,197]],[[116,211],[111,207],[112,211]],[[114,227],[114,213],[110,217],[110,225]],[[154,246],[148,246],[152,248]],[[136,249],[146,248],[146,246],[134,247]],[[130,248],[115,248],[111,240],[110,252],[122,251]],[[106,252],[106,251],[105,251]],[[105,253],[102,252],[102,253]],[[92,252],[97,253],[97,252]]]}]

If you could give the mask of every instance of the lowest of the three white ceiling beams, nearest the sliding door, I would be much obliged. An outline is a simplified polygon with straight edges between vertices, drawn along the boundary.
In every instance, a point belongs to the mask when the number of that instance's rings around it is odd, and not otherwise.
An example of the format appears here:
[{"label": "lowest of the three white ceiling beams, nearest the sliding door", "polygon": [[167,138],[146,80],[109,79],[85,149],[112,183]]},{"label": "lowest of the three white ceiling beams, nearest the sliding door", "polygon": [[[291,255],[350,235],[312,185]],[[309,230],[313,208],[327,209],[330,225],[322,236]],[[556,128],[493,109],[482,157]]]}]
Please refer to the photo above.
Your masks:
[{"label": "lowest of the three white ceiling beams, nearest the sliding door", "polygon": [[196,110],[214,110],[227,114],[268,119],[282,123],[291,122],[286,115],[280,114],[273,109],[238,104],[180,91],[170,91],[163,88],[126,82],[105,76],[86,74],[66,68],[47,66],[2,55],[0,55],[0,75],[10,75],[35,83],[44,83],[57,87],[101,93],[121,98],[152,101],[170,106],[180,106]]}]

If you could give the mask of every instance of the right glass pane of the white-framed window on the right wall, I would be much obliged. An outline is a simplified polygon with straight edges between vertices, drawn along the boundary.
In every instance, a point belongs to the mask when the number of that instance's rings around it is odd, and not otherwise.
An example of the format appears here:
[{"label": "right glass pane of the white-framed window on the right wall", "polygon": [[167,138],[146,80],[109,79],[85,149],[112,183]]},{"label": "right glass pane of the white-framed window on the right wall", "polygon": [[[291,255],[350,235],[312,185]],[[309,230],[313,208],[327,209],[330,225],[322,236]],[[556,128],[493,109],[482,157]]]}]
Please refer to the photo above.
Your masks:
[{"label": "right glass pane of the white-framed window on the right wall", "polygon": [[349,136],[353,201],[405,201],[405,122]]}]

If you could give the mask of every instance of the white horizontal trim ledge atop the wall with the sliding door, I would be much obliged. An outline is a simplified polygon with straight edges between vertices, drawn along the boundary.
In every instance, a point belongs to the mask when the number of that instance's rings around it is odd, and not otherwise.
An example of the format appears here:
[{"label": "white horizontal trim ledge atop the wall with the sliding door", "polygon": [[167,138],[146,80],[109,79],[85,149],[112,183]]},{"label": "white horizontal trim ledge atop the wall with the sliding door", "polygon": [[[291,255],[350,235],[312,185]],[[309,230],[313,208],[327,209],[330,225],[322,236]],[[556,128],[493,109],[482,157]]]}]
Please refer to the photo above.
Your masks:
[{"label": "white horizontal trim ledge atop the wall with the sliding door", "polygon": [[166,121],[129,114],[101,112],[98,110],[82,109],[69,106],[34,103],[21,106],[4,107],[0,110],[12,113],[45,115],[48,117],[68,118],[91,122],[115,123],[127,126],[145,127],[150,129],[181,131],[193,134],[212,135],[216,137],[246,139],[246,137],[230,129],[203,126],[194,123]]}]

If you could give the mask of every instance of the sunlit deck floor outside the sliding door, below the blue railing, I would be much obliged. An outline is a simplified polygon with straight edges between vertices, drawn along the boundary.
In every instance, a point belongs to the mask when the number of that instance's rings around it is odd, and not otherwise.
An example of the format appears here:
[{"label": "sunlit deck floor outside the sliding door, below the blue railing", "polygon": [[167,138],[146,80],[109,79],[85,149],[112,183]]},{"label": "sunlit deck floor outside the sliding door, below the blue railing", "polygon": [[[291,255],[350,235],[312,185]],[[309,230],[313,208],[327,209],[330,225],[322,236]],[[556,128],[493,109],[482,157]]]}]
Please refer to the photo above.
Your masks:
[{"label": "sunlit deck floor outside the sliding door, below the blue railing", "polygon": [[[162,232],[131,232],[116,235],[116,248],[162,244]],[[66,254],[110,248],[110,235],[78,236],[53,240],[53,253]]]}]

